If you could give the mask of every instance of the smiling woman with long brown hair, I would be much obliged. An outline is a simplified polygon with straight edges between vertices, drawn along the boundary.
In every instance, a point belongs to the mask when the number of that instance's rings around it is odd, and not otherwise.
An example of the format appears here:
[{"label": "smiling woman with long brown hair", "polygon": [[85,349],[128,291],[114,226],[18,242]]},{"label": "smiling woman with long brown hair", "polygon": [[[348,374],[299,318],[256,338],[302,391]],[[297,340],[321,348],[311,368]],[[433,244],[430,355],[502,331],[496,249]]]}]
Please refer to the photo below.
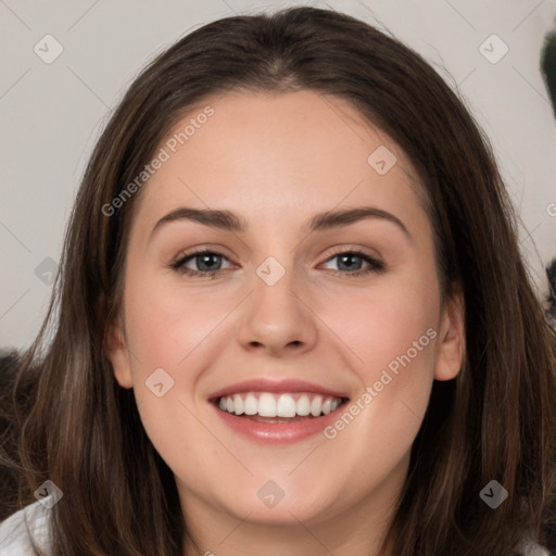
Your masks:
[{"label": "smiling woman with long brown hair", "polygon": [[5,546],[27,516],[56,556],[555,549],[554,333],[486,139],[399,41],[312,8],[188,35],[61,266]]}]

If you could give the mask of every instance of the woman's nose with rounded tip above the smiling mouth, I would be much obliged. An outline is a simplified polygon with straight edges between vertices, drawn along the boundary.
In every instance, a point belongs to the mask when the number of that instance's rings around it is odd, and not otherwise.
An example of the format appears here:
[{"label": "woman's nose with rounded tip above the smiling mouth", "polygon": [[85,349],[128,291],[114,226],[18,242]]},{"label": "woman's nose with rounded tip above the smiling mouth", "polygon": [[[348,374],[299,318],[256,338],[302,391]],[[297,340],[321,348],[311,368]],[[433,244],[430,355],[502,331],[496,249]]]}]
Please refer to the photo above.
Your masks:
[{"label": "woman's nose with rounded tip above the smiling mouth", "polygon": [[311,295],[292,270],[269,286],[255,276],[253,293],[245,300],[238,339],[249,351],[274,357],[296,355],[313,349],[318,317]]}]

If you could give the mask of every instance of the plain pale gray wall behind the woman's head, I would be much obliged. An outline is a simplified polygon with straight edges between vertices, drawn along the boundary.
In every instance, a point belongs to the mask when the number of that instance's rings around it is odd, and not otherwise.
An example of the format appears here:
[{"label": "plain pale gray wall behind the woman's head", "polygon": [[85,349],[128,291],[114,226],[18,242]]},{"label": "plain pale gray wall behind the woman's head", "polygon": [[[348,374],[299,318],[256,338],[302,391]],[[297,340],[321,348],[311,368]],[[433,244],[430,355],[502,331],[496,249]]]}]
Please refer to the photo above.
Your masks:
[{"label": "plain pale gray wall behind the woman's head", "polygon": [[[520,247],[540,296],[556,256],[556,121],[540,74],[554,0],[0,0],[0,346],[34,339],[88,155],[139,70],[216,18],[309,4],[387,28],[466,99],[521,216]],[[506,55],[497,59],[504,45]],[[62,53],[50,64],[43,58]],[[481,45],[483,45],[481,47]],[[34,49],[38,50],[38,53]],[[504,279],[504,277],[501,277]]]}]

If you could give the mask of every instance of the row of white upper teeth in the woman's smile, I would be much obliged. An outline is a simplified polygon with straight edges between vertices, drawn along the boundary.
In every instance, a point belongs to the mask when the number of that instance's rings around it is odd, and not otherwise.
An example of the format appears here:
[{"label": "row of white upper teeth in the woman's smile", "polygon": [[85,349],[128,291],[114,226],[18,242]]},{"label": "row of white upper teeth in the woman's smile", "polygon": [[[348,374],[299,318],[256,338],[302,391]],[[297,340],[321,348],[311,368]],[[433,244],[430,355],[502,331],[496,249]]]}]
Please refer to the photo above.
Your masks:
[{"label": "row of white upper teeth in the woman's smile", "polygon": [[271,394],[269,392],[237,393],[223,396],[218,407],[236,415],[260,415],[261,417],[319,417],[334,412],[342,400],[313,393]]}]

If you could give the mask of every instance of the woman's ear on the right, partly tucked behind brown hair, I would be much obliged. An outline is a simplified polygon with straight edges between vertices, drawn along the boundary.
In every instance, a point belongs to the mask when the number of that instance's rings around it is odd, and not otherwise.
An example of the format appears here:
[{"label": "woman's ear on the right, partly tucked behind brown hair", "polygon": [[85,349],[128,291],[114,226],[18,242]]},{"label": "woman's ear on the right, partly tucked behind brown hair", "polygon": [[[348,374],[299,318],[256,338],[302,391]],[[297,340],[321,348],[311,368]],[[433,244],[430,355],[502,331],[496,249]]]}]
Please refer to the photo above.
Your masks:
[{"label": "woman's ear on the right, partly tucked behind brown hair", "polygon": [[463,293],[457,291],[444,302],[442,308],[434,378],[455,378],[464,364],[464,354],[465,304]]}]

